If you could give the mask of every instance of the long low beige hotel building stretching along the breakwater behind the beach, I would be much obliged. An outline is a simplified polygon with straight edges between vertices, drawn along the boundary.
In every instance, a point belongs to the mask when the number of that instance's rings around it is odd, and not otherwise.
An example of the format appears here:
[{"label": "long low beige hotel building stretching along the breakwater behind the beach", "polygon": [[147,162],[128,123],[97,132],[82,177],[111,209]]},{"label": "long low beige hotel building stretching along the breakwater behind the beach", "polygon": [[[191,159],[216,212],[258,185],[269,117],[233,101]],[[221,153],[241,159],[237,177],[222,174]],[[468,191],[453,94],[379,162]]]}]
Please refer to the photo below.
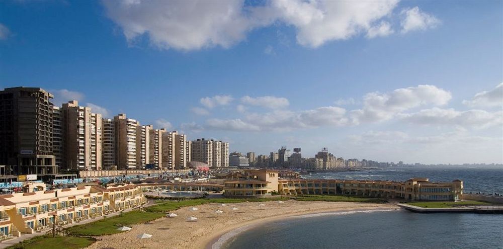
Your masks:
[{"label": "long low beige hotel building stretching along the breakwater behind the beach", "polygon": [[459,200],[463,182],[432,183],[428,178],[412,178],[405,182],[372,180],[278,179],[278,172],[249,170],[233,173],[224,182],[224,195],[261,197],[278,193],[298,195],[353,195],[400,198],[407,201]]}]

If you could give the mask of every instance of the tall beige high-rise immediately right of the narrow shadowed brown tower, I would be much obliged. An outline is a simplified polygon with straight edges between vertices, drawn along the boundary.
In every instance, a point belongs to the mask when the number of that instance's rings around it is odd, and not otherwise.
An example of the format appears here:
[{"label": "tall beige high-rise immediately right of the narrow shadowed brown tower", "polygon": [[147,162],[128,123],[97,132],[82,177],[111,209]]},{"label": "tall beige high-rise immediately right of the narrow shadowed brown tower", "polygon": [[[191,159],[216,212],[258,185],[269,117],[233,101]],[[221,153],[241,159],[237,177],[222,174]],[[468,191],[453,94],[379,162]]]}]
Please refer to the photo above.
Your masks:
[{"label": "tall beige high-rise immediately right of the narrow shadowed brown tower", "polygon": [[115,150],[117,169],[136,169],[136,126],[135,119],[126,118],[121,113],[114,117],[115,124]]}]

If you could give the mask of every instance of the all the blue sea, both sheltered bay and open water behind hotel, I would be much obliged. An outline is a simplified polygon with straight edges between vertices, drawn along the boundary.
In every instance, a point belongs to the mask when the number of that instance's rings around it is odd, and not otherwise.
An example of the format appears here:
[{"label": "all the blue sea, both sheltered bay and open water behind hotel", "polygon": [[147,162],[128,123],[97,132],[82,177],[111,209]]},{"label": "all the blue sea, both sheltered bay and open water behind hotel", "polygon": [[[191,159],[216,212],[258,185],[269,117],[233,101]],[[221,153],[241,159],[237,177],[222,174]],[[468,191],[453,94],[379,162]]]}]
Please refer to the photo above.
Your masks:
[{"label": "all the blue sea, both sheltered bay and open water behind hotel", "polygon": [[[304,177],[395,181],[426,177],[434,182],[460,179],[464,181],[465,192],[503,193],[503,169],[499,168],[391,168],[312,173]],[[503,249],[503,214],[354,210],[290,217],[234,231],[233,235],[220,241],[217,247]]]}]

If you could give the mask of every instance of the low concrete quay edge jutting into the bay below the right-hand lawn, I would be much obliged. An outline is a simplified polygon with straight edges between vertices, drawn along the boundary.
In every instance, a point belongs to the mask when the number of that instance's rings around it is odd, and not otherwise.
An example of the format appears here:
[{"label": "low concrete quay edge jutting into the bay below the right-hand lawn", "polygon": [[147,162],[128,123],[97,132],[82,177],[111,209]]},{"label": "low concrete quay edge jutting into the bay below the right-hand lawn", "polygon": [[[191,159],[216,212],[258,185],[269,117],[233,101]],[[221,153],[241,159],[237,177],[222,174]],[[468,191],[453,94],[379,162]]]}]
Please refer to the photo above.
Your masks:
[{"label": "low concrete quay edge jutting into the bay below the right-hand lawn", "polygon": [[501,205],[477,205],[470,207],[452,207],[452,208],[423,208],[408,205],[405,203],[396,203],[395,205],[405,208],[412,212],[417,213],[457,213],[457,212],[470,212],[470,213],[503,213],[503,206]]}]

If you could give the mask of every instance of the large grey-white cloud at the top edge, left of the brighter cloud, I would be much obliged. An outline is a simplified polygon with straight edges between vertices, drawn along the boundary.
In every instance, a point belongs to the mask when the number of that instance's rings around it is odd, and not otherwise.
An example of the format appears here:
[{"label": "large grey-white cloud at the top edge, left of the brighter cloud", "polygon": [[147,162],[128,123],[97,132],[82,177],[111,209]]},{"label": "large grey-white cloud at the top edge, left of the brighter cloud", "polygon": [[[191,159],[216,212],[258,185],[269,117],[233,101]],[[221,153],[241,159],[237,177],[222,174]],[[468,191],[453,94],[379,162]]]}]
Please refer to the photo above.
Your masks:
[{"label": "large grey-white cloud at the top edge, left of the brighter cloud", "polygon": [[159,48],[227,48],[260,25],[244,1],[102,1],[129,42],[148,35]]}]

